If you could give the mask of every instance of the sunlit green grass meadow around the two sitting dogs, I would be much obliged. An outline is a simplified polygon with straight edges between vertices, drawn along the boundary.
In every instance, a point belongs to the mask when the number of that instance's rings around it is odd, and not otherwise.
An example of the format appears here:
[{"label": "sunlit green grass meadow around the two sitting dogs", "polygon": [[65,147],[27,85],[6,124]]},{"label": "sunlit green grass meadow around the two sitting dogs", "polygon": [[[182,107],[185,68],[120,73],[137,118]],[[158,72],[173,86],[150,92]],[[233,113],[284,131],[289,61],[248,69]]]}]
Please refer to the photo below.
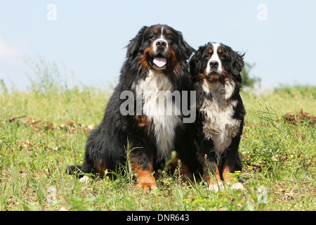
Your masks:
[{"label": "sunlit green grass meadow around the two sitting dogs", "polygon": [[83,161],[110,92],[48,82],[27,91],[2,84],[0,210],[316,210],[315,120],[284,119],[300,110],[316,114],[315,86],[286,86],[262,97],[242,93],[246,191],[209,191],[197,181],[185,186],[178,173],[163,172],[157,190],[145,193],[129,182],[130,172],[88,183],[65,174],[67,165]]}]

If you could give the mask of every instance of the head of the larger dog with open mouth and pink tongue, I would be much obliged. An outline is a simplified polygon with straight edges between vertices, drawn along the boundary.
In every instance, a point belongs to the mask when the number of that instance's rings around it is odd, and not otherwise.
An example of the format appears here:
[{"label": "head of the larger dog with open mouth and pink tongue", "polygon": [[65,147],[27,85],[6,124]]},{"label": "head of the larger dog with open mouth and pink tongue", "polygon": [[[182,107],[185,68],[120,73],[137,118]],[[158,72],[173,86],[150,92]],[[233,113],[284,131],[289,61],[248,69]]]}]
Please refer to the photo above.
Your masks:
[{"label": "head of the larger dog with open mouth and pink tongue", "polygon": [[143,68],[173,70],[178,62],[190,58],[192,49],[181,32],[168,25],[142,27],[127,46],[127,58],[139,58]]}]

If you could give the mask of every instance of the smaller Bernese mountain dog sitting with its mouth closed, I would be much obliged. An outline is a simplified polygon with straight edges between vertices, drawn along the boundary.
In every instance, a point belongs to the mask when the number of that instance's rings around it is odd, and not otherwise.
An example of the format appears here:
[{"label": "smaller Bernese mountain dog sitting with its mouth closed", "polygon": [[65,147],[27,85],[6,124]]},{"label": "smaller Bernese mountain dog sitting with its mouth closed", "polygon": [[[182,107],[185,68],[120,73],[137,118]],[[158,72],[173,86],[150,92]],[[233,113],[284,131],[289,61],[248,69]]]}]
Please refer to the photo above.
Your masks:
[{"label": "smaller Bernese mountain dog sitting with its mouth closed", "polygon": [[[243,56],[229,46],[211,42],[200,46],[190,59],[197,91],[197,158],[207,185],[216,190],[218,184],[223,185],[220,180],[230,184],[229,173],[242,169],[238,148],[246,114],[239,95]],[[232,188],[242,187],[239,182],[232,184]]]}]

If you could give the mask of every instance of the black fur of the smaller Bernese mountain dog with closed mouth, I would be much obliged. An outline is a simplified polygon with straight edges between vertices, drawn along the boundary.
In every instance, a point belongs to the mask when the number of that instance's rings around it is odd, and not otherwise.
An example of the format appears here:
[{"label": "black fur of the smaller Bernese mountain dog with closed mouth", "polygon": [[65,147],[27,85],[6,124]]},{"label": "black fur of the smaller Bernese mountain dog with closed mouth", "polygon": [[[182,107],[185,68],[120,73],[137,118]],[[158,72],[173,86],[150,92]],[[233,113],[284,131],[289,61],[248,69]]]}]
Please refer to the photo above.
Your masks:
[{"label": "black fur of the smaller Bernese mountain dog with closed mouth", "polygon": [[[240,136],[242,135],[242,129],[244,125],[244,115],[246,111],[242,103],[242,98],[239,95],[239,89],[242,86],[242,77],[240,72],[244,68],[243,56],[240,53],[232,51],[229,46],[220,44],[218,47],[220,53],[218,57],[221,64],[223,65],[223,72],[220,74],[218,79],[212,79],[211,75],[206,74],[206,66],[209,63],[212,54],[214,53],[212,43],[208,43],[204,46],[200,46],[198,51],[190,59],[190,74],[192,75],[194,90],[197,91],[197,120],[195,122],[195,146],[197,148],[197,158],[201,165],[201,173],[204,174],[204,179],[207,179],[210,168],[216,173],[219,170],[220,178],[223,179],[223,168],[228,165],[230,172],[235,172],[236,170],[242,170],[242,163],[239,157],[238,148],[240,142]],[[216,159],[216,153],[214,151],[213,137],[211,139],[206,138],[204,131],[204,123],[206,122],[206,115],[201,111],[202,105],[205,101],[213,102],[217,101],[212,96],[211,91],[205,91],[203,88],[204,82],[209,82],[209,84],[219,82],[225,85],[225,80],[231,80],[235,84],[235,89],[227,100],[227,103],[237,101],[237,104],[232,107],[233,115],[232,117],[239,120],[239,128],[237,134],[232,136],[230,145],[225,151],[220,155],[220,159]],[[214,116],[214,115],[211,115]],[[223,132],[221,130],[220,132]],[[224,179],[225,180],[225,179]]]}]

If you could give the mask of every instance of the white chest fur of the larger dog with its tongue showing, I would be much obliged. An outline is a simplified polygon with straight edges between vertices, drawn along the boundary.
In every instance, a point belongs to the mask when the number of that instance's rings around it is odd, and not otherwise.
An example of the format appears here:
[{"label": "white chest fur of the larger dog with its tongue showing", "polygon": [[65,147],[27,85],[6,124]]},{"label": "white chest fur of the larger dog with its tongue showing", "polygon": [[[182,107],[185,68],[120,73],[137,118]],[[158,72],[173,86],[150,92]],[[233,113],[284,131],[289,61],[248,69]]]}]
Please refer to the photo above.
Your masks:
[{"label": "white chest fur of the larger dog with its tongue showing", "polygon": [[137,98],[142,98],[143,115],[146,115],[147,120],[154,126],[158,157],[166,158],[173,150],[176,127],[181,124],[181,118],[175,113],[171,98],[173,86],[166,75],[152,70],[138,85],[142,96]]}]

